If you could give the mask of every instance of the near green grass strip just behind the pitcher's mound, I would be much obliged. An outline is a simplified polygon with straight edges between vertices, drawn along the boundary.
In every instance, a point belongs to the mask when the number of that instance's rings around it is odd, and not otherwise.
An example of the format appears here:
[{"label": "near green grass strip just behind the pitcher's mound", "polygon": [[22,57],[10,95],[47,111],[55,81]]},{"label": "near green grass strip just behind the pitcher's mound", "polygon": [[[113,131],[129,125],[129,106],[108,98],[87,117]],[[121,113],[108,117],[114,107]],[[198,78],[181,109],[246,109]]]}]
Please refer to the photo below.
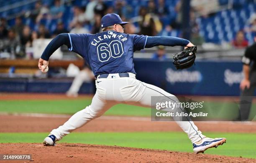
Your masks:
[{"label": "near green grass strip just behind the pitcher's mound", "polygon": [[[207,154],[256,158],[256,134],[205,134],[213,138],[227,138],[226,144],[207,150]],[[0,133],[0,143],[41,143],[46,135],[48,133]],[[192,144],[183,132],[74,132],[61,142],[192,152]]]}]

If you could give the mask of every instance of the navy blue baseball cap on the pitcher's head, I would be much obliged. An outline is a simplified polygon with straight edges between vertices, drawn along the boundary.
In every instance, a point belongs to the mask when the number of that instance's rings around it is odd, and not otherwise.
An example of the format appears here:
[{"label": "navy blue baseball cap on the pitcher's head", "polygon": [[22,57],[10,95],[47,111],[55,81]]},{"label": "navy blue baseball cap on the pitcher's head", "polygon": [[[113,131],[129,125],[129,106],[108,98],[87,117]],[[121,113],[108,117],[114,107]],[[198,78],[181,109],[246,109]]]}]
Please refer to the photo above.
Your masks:
[{"label": "navy blue baseball cap on the pitcher's head", "polygon": [[122,21],[119,15],[111,13],[111,14],[104,15],[101,18],[100,26],[101,28],[105,28],[115,24],[127,24],[127,23],[130,23],[130,22]]}]

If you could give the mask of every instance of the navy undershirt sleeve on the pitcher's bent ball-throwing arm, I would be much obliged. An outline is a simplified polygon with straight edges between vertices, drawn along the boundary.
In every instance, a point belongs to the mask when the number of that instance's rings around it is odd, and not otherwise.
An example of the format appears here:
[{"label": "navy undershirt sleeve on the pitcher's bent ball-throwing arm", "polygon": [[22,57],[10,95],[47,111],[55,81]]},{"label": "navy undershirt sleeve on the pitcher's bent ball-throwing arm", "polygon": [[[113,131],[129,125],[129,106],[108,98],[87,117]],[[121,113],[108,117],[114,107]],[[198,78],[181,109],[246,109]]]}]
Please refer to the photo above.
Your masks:
[{"label": "navy undershirt sleeve on the pitcher's bent ball-throwing arm", "polygon": [[67,33],[61,33],[56,36],[44,49],[41,59],[48,61],[52,53],[62,45],[70,46],[69,36]]}]

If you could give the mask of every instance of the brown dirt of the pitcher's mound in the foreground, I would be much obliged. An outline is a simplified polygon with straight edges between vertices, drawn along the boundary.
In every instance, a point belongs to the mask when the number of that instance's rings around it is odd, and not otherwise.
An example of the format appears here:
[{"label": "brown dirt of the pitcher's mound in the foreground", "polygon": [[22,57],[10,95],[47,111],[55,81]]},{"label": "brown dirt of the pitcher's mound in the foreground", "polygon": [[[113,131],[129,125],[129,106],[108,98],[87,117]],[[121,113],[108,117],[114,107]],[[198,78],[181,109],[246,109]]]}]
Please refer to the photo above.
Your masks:
[{"label": "brown dirt of the pitcher's mound in the foreground", "polygon": [[[104,145],[59,143],[54,147],[45,147],[39,143],[2,143],[0,146],[0,153],[31,154],[32,160],[22,161],[23,163],[32,161],[36,163],[253,163],[256,161],[250,158]],[[5,161],[8,162],[11,161]]]}]

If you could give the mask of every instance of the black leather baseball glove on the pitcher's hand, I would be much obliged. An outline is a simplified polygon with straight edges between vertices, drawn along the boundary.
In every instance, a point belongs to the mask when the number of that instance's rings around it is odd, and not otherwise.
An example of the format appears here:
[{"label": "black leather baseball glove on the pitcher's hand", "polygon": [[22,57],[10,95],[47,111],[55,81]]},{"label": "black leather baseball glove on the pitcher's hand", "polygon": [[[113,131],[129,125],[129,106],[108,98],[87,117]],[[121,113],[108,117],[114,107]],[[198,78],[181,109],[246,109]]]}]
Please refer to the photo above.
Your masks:
[{"label": "black leather baseball glove on the pitcher's hand", "polygon": [[184,49],[183,51],[173,56],[174,61],[172,62],[176,69],[187,69],[191,67],[196,58],[197,46],[192,46]]}]

